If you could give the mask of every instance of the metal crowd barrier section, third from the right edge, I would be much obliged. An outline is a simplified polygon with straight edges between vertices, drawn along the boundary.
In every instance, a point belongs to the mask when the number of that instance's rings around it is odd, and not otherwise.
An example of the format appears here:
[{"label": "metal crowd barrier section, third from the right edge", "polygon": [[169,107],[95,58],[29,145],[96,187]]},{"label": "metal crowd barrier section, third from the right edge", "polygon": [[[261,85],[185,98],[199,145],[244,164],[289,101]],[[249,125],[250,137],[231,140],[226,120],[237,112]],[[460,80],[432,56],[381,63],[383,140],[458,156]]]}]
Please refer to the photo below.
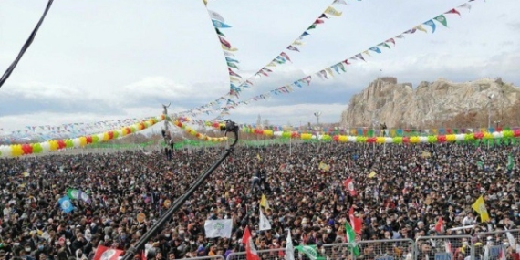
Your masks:
[{"label": "metal crowd barrier section, third from the right edge", "polygon": [[[352,251],[352,259],[373,260],[414,260],[415,243],[411,239],[385,239],[359,241],[356,249]],[[347,258],[346,258],[347,259]]]}]

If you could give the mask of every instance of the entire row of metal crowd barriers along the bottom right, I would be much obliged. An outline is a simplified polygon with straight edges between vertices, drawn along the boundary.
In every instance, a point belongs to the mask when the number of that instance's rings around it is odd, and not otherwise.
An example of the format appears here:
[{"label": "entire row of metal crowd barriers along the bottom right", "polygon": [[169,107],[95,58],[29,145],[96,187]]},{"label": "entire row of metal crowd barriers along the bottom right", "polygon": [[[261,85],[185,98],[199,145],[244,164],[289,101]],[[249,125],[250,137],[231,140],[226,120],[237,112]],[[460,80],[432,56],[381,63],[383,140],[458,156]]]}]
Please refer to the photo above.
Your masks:
[{"label": "entire row of metal crowd barriers along the bottom right", "polygon": [[[475,233],[472,235],[435,235],[411,239],[359,241],[356,244],[323,244],[298,250],[295,260],[518,260],[520,229]],[[307,247],[307,246],[304,246]],[[261,260],[284,260],[286,248],[257,250]],[[191,259],[224,259],[208,256]],[[245,252],[234,252],[226,260],[247,260]]]}]

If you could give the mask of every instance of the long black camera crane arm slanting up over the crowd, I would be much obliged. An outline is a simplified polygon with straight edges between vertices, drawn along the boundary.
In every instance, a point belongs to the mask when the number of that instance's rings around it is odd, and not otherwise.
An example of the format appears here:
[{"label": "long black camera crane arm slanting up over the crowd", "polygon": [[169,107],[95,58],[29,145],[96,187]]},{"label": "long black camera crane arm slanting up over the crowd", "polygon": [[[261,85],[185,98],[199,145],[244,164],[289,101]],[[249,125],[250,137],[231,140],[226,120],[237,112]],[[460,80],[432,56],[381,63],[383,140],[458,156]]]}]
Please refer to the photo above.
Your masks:
[{"label": "long black camera crane arm slanting up over the crowd", "polygon": [[123,256],[122,260],[131,260],[133,259],[133,256],[136,252],[138,252],[140,249],[144,247],[148,241],[150,241],[151,237],[156,234],[161,227],[170,221],[172,218],[173,213],[176,213],[181,207],[182,204],[188,200],[189,197],[192,196],[193,192],[195,192],[202,184],[203,182],[212,174],[215,169],[220,166],[220,164],[233,152],[234,145],[238,141],[238,134],[235,133],[235,140],[234,143],[226,149],[222,157],[213,163],[213,165],[210,167],[210,169],[206,170],[206,172],[203,173],[203,175],[199,176],[199,178],[193,183],[193,185],[190,187],[188,192],[185,192],[182,194],[179,198],[177,198],[173,203],[172,207],[168,209],[166,213],[164,213],[161,218],[157,221],[156,224],[153,224],[151,228],[142,235],[140,240],[135,244],[135,246],[130,246],[130,248],[125,252],[125,255]]}]

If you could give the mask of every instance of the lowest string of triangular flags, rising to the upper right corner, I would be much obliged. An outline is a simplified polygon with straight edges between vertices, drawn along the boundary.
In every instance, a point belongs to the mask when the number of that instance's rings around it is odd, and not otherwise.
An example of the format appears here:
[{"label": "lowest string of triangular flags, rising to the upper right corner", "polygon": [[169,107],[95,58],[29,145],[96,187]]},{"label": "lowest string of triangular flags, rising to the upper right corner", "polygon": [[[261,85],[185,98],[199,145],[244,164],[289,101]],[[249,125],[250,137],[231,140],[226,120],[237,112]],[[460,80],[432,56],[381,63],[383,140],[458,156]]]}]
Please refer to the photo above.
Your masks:
[{"label": "lowest string of triangular flags, rising to the upper right corner", "polygon": [[[405,35],[414,34],[417,30],[420,30],[420,31],[423,31],[423,32],[427,33],[428,30],[426,30],[423,27],[423,25],[428,25],[428,26],[432,27],[432,33],[435,31],[435,28],[436,28],[435,22],[440,23],[442,26],[448,27],[448,21],[447,21],[446,16],[444,16],[444,15],[458,15],[458,16],[461,16],[461,13],[459,12],[458,9],[468,9],[468,10],[471,10],[471,6],[472,5],[470,5],[469,3],[473,2],[473,1],[475,1],[475,0],[470,0],[467,3],[464,3],[463,5],[458,5],[458,6],[454,7],[454,8],[452,8],[452,9],[448,10],[447,12],[442,13],[441,15],[434,16],[432,19],[429,19],[426,22],[421,23],[418,26],[413,26],[411,29],[408,29],[408,30],[404,31],[403,33],[399,34],[398,36],[390,37],[390,38],[384,40],[383,42],[380,42],[379,44],[377,44],[375,46],[369,47],[367,50],[359,52],[358,54],[356,54],[354,56],[348,57],[347,59],[344,59],[343,61],[340,61],[340,62],[338,62],[338,63],[336,63],[336,64],[334,64],[334,65],[332,65],[332,66],[330,66],[328,68],[323,68],[323,69],[321,69],[321,70],[319,70],[319,71],[317,71],[315,73],[307,75],[304,78],[297,79],[293,83],[286,84],[285,86],[282,86],[282,87],[279,87],[279,88],[271,89],[271,90],[269,90],[269,91],[267,91],[267,92],[265,92],[263,94],[256,95],[253,98],[246,99],[244,101],[236,102],[236,104],[232,108],[231,107],[224,107],[224,109],[220,109],[220,110],[221,111],[225,111],[225,113],[221,112],[219,114],[219,116],[215,120],[223,120],[224,119],[224,115],[229,114],[229,110],[230,109],[236,109],[237,107],[239,107],[241,105],[248,105],[248,104],[250,104],[253,101],[270,99],[272,97],[272,95],[280,95],[280,94],[291,93],[291,92],[293,92],[294,87],[303,88],[305,86],[309,86],[311,81],[312,81],[312,79],[315,78],[315,77],[326,80],[326,79],[329,79],[329,77],[334,77],[335,72],[336,72],[336,74],[345,73],[345,72],[347,72],[346,67],[348,65],[351,65],[350,61],[365,61],[366,62],[367,60],[365,58],[366,57],[370,57],[370,53],[376,53],[376,54],[381,54],[382,53],[380,47],[388,47],[389,49],[391,49],[390,43],[392,44],[392,46],[395,46],[396,39],[404,39]],[[217,109],[217,111],[218,111],[218,109]],[[196,114],[196,113],[192,113],[192,114]]]}]

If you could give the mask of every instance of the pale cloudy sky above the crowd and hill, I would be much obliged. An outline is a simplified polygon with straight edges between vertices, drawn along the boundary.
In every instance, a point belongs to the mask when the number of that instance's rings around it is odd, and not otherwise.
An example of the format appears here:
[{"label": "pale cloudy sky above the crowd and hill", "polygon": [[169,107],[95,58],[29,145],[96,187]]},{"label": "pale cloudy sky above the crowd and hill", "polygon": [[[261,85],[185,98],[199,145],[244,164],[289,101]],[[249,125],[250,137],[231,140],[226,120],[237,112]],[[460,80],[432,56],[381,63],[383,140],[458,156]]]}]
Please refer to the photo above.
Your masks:
[{"label": "pale cloudy sky above the crowd and hill", "polygon": [[[244,90],[242,99],[284,86],[351,57],[466,1],[346,0],[343,16],[310,31],[292,64]],[[0,3],[0,70],[26,41],[47,1]],[[264,67],[319,16],[332,0],[210,0],[208,8],[233,26],[223,29],[239,50],[244,78]],[[467,81],[502,77],[520,85],[518,0],[472,2],[446,15],[432,34],[417,32],[396,47],[354,63],[348,73],[288,95],[233,110],[230,118],[294,125],[336,122],[352,94],[380,76],[416,86],[422,80]],[[201,1],[55,1],[32,47],[0,88],[0,128],[122,120],[191,109],[229,89],[224,55]],[[213,115],[214,117],[214,115]],[[205,117],[202,119],[213,119]]]}]

